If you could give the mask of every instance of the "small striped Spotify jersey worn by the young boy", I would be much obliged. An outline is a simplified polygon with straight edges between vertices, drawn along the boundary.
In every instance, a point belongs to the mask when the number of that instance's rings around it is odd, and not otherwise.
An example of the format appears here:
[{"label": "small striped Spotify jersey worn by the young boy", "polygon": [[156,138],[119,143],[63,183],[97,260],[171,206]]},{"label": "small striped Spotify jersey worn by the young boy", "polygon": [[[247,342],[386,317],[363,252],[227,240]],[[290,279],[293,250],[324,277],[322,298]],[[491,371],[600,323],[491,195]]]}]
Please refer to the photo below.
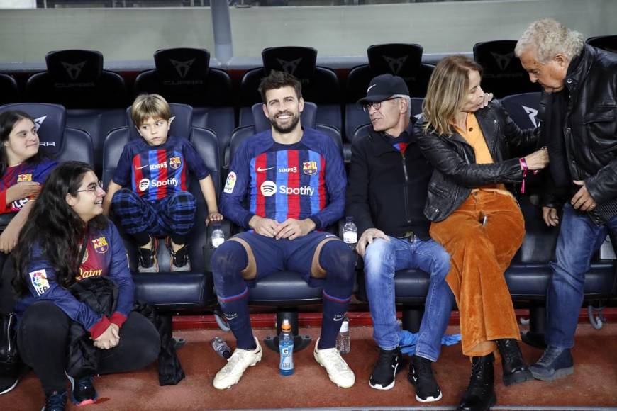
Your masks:
[{"label": "small striped Spotify jersey worn by the young boy", "polygon": [[189,171],[198,180],[210,174],[188,140],[169,136],[164,144],[151,146],[140,138],[124,147],[113,181],[120,186],[130,185],[147,201],[157,201],[187,191]]}]

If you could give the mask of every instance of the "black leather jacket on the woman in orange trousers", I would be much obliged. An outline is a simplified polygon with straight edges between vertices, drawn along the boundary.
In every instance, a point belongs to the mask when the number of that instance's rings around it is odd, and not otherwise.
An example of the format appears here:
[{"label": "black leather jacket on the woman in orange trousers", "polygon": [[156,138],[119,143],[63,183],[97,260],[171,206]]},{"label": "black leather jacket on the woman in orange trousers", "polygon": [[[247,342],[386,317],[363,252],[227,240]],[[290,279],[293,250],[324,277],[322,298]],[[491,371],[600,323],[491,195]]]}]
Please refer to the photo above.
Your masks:
[{"label": "black leather jacket on the woman in orange trousers", "polygon": [[[452,136],[426,134],[424,119],[416,123],[418,144],[435,171],[428,184],[424,215],[431,221],[445,220],[467,199],[472,188],[487,184],[518,183],[523,172],[518,158],[510,159],[512,147],[535,147],[539,129],[521,130],[498,101],[476,112],[487,141],[492,164],[476,164],[474,149],[458,133]],[[528,150],[533,151],[533,148]]]}]

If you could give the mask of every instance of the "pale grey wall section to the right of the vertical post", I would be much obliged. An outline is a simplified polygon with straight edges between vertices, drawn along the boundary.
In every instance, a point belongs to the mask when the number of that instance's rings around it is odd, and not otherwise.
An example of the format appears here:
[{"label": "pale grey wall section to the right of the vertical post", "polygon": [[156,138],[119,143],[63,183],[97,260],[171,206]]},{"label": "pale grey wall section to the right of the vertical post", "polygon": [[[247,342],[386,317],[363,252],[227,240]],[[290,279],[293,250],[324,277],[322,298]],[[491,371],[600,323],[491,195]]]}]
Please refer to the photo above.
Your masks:
[{"label": "pale grey wall section to the right of the vertical post", "polygon": [[471,52],[484,40],[518,39],[552,17],[584,37],[617,34],[616,0],[504,0],[355,7],[232,9],[234,55],[281,45],[319,55],[365,55],[369,45],[418,43],[425,52]]}]

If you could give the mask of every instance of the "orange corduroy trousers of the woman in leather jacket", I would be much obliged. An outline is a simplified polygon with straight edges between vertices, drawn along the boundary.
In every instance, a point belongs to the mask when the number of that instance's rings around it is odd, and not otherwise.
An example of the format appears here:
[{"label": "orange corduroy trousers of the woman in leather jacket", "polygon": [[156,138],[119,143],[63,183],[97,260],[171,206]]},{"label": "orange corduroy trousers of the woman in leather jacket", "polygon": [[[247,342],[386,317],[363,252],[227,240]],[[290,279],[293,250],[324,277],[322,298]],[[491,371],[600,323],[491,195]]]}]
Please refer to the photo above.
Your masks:
[{"label": "orange corduroy trousers of the woman in leather jacket", "polygon": [[430,225],[430,236],[450,253],[446,281],[459,308],[466,356],[490,354],[496,339],[521,339],[504,271],[524,235],[516,200],[495,191],[474,191],[448,218]]}]

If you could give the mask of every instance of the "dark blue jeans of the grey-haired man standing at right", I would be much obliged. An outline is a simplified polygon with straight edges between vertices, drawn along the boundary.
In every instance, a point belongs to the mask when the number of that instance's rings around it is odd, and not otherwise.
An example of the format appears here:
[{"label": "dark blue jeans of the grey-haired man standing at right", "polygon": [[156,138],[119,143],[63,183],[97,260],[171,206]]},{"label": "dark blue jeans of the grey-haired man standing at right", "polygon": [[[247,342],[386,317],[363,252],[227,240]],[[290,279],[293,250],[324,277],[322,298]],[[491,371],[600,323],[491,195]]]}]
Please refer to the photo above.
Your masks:
[{"label": "dark blue jeans of the grey-haired man standing at right", "polygon": [[567,203],[563,210],[557,239],[557,261],[551,263],[552,278],[548,283],[547,328],[545,342],[551,347],[574,347],[579,312],[583,303],[585,273],[591,256],[608,234],[617,232],[617,217],[597,226],[585,213]]}]

